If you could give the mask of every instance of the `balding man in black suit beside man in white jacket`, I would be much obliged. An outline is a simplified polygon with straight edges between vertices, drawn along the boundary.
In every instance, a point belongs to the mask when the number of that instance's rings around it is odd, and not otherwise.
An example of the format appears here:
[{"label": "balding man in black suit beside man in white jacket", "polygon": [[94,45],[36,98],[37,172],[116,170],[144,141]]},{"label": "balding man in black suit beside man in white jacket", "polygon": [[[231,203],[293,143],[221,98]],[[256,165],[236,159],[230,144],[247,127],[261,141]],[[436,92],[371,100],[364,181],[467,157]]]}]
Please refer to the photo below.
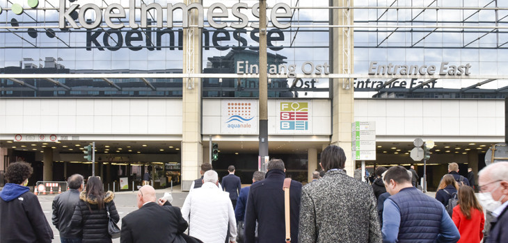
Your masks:
[{"label": "balding man in black suit beside man in white jacket", "polygon": [[[136,197],[138,210],[122,218],[120,242],[173,242],[177,235],[184,233],[187,222],[180,208],[173,207],[165,199],[155,203],[155,190],[143,185]],[[164,204],[163,204],[164,203]]]}]

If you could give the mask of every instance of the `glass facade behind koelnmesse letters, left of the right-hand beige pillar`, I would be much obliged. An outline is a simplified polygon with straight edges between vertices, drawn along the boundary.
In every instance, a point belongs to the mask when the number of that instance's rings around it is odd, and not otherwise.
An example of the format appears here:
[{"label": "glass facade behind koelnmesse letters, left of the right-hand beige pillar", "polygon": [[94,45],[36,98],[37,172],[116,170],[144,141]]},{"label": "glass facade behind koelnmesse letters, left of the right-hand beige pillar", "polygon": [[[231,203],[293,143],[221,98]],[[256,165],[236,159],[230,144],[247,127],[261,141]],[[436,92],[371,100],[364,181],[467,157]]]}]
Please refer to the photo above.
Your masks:
[{"label": "glass facade behind koelnmesse letters, left of the right-hand beige pillar", "polygon": [[[22,78],[1,79],[2,97],[182,97],[182,74],[185,55],[184,12],[173,11],[173,26],[168,27],[168,4],[177,6],[182,1],[134,1],[134,22],[142,22],[141,4],[162,6],[146,12],[146,28],[113,28],[114,24],[130,26],[128,0],[86,1],[81,7],[69,11],[65,28],[59,28],[64,11],[71,9],[75,1],[40,1],[37,8],[30,8],[24,1],[0,0],[4,9],[0,13],[0,74],[166,74],[164,78]],[[85,8],[90,3],[95,8]],[[111,18],[106,22],[106,8],[120,4],[125,18]],[[239,18],[232,11],[235,3],[225,3],[228,17],[214,18],[214,22],[226,23],[226,28],[212,28],[207,11],[217,1],[203,1],[202,50],[203,73],[236,74],[237,61],[250,61],[256,65],[259,47],[259,29],[253,28],[259,17],[252,7],[258,1],[241,1],[246,4],[239,12],[248,18],[245,28],[229,27]],[[328,6],[328,1],[268,1],[269,8],[278,3],[299,6],[291,9],[291,17],[280,18],[283,24],[326,24],[328,10],[312,8]],[[23,8],[15,12],[15,5]],[[60,8],[60,9],[58,9]],[[257,9],[256,9],[257,10]],[[271,10],[268,10],[269,18]],[[114,9],[114,13],[121,10]],[[189,10],[195,11],[195,10]],[[218,12],[218,10],[214,10]],[[283,10],[278,10],[283,12]],[[81,13],[80,13],[81,12]],[[99,13],[99,14],[98,14]],[[64,15],[65,16],[65,15]],[[161,19],[161,28],[157,28]],[[98,20],[97,20],[98,19]],[[97,28],[83,28],[85,24]],[[109,19],[107,19],[109,20]],[[72,22],[81,28],[69,28]],[[330,64],[328,28],[275,28],[269,22],[267,44],[270,62],[276,65],[273,72],[287,74],[287,78],[274,78],[269,83],[269,97],[329,97],[328,78],[292,78],[302,73],[304,62],[315,65]],[[242,59],[243,58],[243,59]],[[246,63],[245,63],[246,65]],[[280,67],[284,65],[285,67]],[[250,67],[250,66],[249,66]],[[283,69],[282,69],[283,68]],[[310,66],[309,66],[310,68]],[[247,71],[255,70],[246,69]],[[222,81],[222,80],[221,80]],[[203,79],[203,97],[257,97],[257,79],[235,80],[219,78]]]}]

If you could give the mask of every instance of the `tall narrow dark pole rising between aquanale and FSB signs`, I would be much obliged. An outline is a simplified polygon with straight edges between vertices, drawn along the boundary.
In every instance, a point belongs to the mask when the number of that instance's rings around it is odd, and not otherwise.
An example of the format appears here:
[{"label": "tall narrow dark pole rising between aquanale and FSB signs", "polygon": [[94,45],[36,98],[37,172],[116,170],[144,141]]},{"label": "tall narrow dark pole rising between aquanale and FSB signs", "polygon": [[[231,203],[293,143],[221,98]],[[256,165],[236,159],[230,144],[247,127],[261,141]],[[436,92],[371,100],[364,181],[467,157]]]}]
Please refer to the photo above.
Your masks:
[{"label": "tall narrow dark pole rising between aquanale and FSB signs", "polygon": [[260,0],[260,137],[259,160],[261,171],[267,171],[265,157],[268,156],[268,79],[267,79],[267,1]]}]

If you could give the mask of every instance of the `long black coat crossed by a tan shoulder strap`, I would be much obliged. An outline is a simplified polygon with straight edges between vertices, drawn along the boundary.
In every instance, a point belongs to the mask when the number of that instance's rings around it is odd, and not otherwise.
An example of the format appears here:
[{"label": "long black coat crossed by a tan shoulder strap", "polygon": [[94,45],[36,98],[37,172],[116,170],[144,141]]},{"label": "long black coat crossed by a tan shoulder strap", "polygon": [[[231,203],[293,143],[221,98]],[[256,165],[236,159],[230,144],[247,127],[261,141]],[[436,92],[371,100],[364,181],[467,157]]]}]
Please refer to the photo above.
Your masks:
[{"label": "long black coat crossed by a tan shoulder strap", "polygon": [[[284,216],[284,171],[271,169],[263,181],[251,185],[245,213],[245,243],[253,243],[256,220],[258,240],[263,243],[285,242]],[[298,242],[301,183],[291,181],[289,208],[291,220],[291,242]]]}]

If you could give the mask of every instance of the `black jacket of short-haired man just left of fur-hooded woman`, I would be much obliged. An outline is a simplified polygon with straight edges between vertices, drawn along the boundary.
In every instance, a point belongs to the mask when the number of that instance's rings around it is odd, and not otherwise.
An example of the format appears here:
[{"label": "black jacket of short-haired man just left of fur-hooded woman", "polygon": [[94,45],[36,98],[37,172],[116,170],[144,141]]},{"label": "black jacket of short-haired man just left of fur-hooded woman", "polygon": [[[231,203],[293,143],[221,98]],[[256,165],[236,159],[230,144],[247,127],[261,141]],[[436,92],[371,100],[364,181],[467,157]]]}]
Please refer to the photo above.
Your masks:
[{"label": "black jacket of short-haired man just left of fur-hooded woman", "polygon": [[80,227],[70,226],[74,209],[79,202],[79,191],[70,189],[67,192],[58,194],[53,199],[53,216],[51,217],[53,225],[60,231],[60,237],[63,238],[81,238],[83,231]]}]

